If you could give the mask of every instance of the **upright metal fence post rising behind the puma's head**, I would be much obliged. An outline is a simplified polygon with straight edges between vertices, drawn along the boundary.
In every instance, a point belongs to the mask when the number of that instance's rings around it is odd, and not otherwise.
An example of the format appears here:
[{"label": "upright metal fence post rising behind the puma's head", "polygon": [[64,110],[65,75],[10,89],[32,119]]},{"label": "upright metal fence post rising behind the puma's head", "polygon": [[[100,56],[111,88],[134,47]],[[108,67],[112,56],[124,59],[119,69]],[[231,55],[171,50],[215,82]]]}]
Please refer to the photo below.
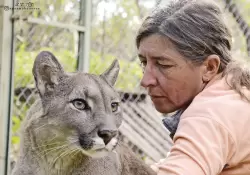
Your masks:
[{"label": "upright metal fence post rising behind the puma's head", "polygon": [[91,8],[91,0],[80,1],[80,25],[85,27],[85,32],[79,31],[77,69],[84,72],[89,71]]}]

